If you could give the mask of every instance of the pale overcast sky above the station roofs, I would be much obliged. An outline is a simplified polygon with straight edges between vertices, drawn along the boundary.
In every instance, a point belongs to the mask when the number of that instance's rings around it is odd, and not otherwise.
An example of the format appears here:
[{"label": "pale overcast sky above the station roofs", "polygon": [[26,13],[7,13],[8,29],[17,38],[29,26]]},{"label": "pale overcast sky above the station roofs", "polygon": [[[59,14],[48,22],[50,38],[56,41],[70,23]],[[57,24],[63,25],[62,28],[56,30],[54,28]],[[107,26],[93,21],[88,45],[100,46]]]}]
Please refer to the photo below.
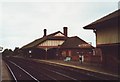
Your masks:
[{"label": "pale overcast sky above the station roofs", "polygon": [[[84,2],[83,2],[84,1]],[[47,34],[63,32],[79,36],[95,46],[95,34],[84,26],[118,9],[119,0],[2,0],[0,3],[0,46],[22,47]],[[108,2],[109,1],[109,2]]]}]

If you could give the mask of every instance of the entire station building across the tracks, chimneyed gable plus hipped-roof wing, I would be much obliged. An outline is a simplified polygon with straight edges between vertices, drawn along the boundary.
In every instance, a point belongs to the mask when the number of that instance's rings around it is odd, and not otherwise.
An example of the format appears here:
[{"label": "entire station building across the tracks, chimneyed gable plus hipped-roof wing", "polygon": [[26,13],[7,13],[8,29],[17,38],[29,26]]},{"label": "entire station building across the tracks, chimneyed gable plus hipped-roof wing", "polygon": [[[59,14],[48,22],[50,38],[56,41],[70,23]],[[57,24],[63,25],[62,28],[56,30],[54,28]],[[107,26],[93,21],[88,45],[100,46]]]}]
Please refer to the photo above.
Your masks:
[{"label": "entire station building across the tracks, chimneyed gable plus hipped-roof wing", "polygon": [[90,56],[93,54],[93,46],[79,37],[68,37],[68,28],[63,28],[63,33],[57,31],[47,35],[44,29],[44,35],[21,48],[25,57],[39,59],[62,59],[71,57],[78,61],[79,56],[84,55],[84,61],[90,62]]}]

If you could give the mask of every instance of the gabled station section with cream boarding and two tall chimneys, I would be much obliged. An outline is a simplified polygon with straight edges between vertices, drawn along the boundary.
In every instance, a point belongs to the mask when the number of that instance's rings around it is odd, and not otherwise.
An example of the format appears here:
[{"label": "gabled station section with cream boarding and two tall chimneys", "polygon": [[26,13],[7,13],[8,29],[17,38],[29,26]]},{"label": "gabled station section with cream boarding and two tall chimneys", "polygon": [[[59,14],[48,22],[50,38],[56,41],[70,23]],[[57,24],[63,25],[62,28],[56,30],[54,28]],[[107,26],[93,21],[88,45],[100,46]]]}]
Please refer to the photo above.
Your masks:
[{"label": "gabled station section with cream boarding and two tall chimneys", "polygon": [[[53,58],[56,56],[56,50],[57,48],[64,43],[64,41],[67,39],[67,27],[63,28],[63,33],[60,31],[57,31],[55,33],[47,35],[47,30],[44,29],[44,35],[42,38],[37,39],[25,46],[22,47],[22,50],[24,50],[25,54],[34,54],[39,55],[42,53],[42,55],[46,55],[45,57]],[[49,54],[49,55],[48,55]],[[29,56],[29,55],[27,55]],[[31,55],[30,55],[31,56]],[[37,56],[35,56],[37,57]],[[39,58],[39,57],[37,57]]]}]

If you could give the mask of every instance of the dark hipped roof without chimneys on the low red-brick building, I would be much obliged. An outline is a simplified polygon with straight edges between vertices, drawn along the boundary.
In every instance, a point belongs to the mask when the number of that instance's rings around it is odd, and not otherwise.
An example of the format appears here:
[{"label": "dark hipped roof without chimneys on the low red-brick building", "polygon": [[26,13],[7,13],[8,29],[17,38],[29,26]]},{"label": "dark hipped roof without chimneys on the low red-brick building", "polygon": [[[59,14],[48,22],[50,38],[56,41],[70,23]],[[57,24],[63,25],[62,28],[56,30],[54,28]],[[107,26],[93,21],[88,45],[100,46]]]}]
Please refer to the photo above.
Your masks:
[{"label": "dark hipped roof without chimneys on the low red-brick building", "polygon": [[60,48],[93,48],[93,46],[81,38],[74,36],[67,38],[67,40],[61,45]]}]

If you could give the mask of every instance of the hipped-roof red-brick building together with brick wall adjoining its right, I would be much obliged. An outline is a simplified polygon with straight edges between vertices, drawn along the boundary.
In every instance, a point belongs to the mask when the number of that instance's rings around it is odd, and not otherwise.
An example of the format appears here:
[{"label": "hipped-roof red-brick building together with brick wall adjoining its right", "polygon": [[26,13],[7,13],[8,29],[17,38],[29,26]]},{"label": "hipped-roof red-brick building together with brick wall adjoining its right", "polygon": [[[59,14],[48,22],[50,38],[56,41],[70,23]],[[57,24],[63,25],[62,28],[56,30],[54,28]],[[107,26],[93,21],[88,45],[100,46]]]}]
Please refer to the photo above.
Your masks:
[{"label": "hipped-roof red-brick building together with brick wall adjoining its right", "polygon": [[78,36],[69,37],[60,47],[62,58],[71,57],[73,61],[101,64],[101,51]]}]

